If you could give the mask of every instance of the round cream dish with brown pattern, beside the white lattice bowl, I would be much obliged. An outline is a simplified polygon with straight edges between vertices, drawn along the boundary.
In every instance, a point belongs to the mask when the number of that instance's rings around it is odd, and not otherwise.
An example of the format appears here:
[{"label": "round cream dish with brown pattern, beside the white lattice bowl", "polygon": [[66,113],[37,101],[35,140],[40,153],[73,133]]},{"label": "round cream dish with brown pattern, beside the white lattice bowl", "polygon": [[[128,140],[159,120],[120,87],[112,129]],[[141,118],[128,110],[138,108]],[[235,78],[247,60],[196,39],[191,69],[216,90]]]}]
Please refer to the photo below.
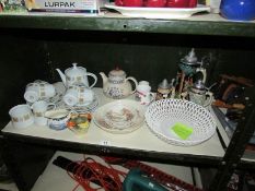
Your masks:
[{"label": "round cream dish with brown pattern, beside the white lattice bowl", "polygon": [[130,133],[144,121],[146,107],[138,102],[121,99],[100,107],[94,114],[94,122],[111,133]]}]

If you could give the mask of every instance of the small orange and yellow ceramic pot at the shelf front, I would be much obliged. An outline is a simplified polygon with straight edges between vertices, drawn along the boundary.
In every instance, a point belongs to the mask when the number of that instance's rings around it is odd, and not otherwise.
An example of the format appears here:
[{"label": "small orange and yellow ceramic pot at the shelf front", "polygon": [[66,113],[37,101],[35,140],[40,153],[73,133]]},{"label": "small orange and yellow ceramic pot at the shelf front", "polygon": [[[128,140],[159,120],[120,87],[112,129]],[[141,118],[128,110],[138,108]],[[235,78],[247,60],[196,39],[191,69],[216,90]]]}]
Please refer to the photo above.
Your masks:
[{"label": "small orange and yellow ceramic pot at the shelf front", "polygon": [[77,134],[84,134],[88,132],[92,116],[91,114],[71,114],[67,121],[67,127]]}]

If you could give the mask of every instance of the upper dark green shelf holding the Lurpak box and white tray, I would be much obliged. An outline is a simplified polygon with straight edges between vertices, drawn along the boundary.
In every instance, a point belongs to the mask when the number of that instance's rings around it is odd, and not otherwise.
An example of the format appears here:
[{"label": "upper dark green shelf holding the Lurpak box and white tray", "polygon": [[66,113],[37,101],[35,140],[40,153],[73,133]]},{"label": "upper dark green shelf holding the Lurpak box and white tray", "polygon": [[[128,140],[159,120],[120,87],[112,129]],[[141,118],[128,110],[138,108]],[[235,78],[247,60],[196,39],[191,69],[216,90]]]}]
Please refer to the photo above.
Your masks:
[{"label": "upper dark green shelf holding the Lurpak box and white tray", "polygon": [[0,14],[0,27],[38,29],[84,29],[108,32],[166,33],[255,37],[255,22],[233,22],[219,14],[196,14],[188,19],[154,20],[127,17],[106,12],[98,16],[68,13]]}]

